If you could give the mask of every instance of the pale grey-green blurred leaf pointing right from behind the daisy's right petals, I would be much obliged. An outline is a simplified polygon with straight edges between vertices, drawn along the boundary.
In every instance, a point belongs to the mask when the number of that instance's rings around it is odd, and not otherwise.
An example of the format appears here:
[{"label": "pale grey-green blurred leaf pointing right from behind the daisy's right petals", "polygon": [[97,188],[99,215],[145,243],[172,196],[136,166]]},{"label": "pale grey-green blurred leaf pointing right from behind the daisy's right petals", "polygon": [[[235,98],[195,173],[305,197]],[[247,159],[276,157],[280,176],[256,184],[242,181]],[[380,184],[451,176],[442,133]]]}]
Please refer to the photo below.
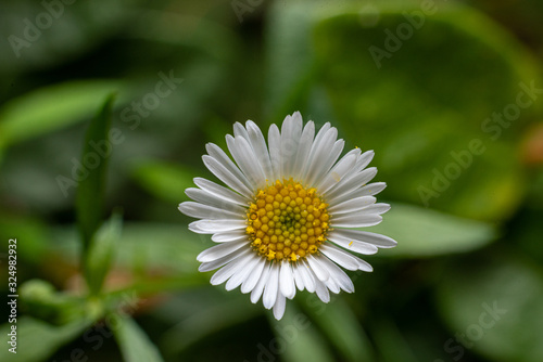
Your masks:
[{"label": "pale grey-green blurred leaf pointing right from behind the daisy's right petals", "polygon": [[392,204],[379,225],[364,230],[397,242],[397,246],[382,250],[379,256],[431,257],[466,253],[497,236],[495,228],[489,223],[402,204]]}]

